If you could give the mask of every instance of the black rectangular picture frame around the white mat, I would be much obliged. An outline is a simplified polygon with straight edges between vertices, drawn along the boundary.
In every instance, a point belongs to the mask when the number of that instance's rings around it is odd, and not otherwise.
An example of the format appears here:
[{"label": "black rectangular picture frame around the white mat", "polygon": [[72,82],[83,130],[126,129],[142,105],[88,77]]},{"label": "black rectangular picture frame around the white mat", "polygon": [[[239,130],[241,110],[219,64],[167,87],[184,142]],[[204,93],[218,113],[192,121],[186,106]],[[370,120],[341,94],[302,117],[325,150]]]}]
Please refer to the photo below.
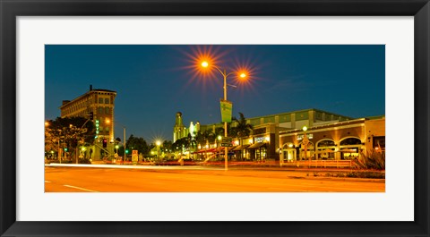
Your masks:
[{"label": "black rectangular picture frame around the white mat", "polygon": [[[428,0],[0,0],[1,236],[429,236]],[[16,17],[51,15],[414,16],[413,222],[18,222],[16,221]],[[412,126],[401,126],[412,129]],[[407,138],[405,138],[407,139]],[[35,204],[37,205],[37,204]]]}]

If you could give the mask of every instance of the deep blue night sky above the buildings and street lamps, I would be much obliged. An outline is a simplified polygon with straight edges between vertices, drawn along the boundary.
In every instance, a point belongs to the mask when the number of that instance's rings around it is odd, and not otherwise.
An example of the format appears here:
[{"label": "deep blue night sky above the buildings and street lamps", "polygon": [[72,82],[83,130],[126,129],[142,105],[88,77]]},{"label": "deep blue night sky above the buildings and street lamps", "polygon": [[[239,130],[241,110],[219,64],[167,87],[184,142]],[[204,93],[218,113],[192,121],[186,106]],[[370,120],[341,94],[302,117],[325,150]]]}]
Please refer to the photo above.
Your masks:
[{"label": "deep blue night sky above the buildings and street lamps", "polygon": [[[46,119],[62,100],[90,89],[116,90],[115,120],[152,142],[172,140],[175,114],[219,123],[219,72],[197,73],[199,55],[219,68],[249,68],[249,80],[228,83],[233,115],[246,118],[318,108],[355,118],[385,114],[384,46],[46,46]],[[116,127],[116,137],[122,138]]]}]

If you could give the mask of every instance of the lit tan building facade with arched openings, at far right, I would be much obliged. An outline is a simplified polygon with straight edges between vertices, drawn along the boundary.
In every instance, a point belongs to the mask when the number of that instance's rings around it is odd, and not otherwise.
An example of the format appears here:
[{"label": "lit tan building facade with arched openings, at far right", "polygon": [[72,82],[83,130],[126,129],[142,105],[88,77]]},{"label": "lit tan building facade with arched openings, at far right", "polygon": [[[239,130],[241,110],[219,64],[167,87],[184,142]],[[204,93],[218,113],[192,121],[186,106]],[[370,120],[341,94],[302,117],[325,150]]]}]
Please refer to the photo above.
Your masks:
[{"label": "lit tan building facade with arched openings, at far right", "polygon": [[326,150],[331,153],[331,158],[348,159],[361,156],[375,147],[385,148],[385,119],[357,119],[309,127],[307,131],[280,131],[280,153],[291,154],[296,150],[297,157],[303,157],[305,133],[309,139],[306,157],[322,158],[322,152]]}]

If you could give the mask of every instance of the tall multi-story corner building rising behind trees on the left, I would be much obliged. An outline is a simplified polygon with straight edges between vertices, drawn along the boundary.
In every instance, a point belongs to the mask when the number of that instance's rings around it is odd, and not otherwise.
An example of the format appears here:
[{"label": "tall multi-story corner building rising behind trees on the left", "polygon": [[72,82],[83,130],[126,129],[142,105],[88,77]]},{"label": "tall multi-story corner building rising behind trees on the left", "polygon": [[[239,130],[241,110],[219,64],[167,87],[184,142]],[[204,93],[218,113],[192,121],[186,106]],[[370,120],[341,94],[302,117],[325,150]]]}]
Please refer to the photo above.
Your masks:
[{"label": "tall multi-story corner building rising behind trees on the left", "polygon": [[[94,123],[96,123],[96,135],[100,140],[106,139],[109,144],[107,150],[113,150],[112,141],[115,138],[114,134],[114,111],[115,111],[115,98],[116,91],[109,89],[92,89],[80,97],[76,97],[73,100],[63,100],[63,105],[60,106],[61,117],[73,117],[81,116],[85,118],[90,117],[90,113],[93,114]],[[112,148],[111,148],[112,147]],[[90,157],[98,160],[101,155],[99,152],[99,146],[93,146],[90,148]]]}]

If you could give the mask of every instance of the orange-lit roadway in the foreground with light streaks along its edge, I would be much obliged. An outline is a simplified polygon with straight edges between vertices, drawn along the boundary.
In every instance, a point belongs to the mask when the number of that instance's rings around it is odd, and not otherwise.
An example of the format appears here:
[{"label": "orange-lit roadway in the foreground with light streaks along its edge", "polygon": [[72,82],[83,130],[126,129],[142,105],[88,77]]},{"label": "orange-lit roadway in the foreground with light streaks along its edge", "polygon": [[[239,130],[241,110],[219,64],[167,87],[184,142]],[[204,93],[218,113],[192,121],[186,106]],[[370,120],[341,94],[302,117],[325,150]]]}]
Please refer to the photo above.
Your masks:
[{"label": "orange-lit roadway in the foreground with light streaks along its edge", "polygon": [[312,172],[173,167],[45,167],[46,192],[383,192],[381,180],[314,177]]}]

